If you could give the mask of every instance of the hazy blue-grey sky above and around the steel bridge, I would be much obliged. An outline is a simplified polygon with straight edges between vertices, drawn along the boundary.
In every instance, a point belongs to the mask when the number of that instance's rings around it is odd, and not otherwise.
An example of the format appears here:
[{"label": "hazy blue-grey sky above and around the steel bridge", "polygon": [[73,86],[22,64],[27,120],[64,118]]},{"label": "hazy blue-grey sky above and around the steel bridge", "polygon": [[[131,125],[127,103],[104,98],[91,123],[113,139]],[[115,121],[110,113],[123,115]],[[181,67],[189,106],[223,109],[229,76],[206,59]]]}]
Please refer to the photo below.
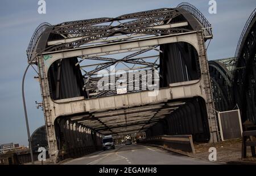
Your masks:
[{"label": "hazy blue-grey sky above and around the steel bridge", "polygon": [[[27,131],[22,104],[22,76],[27,66],[26,49],[40,23],[59,24],[70,20],[115,17],[131,12],[176,7],[189,2],[199,8],[213,27],[208,59],[233,57],[243,26],[256,7],[256,0],[216,0],[217,14],[209,14],[208,0],[55,0],[46,1],[46,14],[38,14],[38,0],[0,1],[0,144],[27,145]],[[30,134],[44,125],[42,102],[35,71],[28,70],[25,94]]]}]

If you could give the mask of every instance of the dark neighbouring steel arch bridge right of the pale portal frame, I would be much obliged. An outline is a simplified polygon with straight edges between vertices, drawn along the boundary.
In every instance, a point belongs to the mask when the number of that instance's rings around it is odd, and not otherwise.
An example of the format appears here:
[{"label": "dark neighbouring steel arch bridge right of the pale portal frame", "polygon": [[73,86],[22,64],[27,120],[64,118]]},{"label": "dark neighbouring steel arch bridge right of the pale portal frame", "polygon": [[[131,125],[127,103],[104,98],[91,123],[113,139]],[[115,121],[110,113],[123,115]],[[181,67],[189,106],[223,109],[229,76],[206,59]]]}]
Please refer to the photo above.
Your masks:
[{"label": "dark neighbouring steel arch bridge right of the pale portal frame", "polygon": [[256,126],[256,9],[251,13],[238,41],[234,58],[209,61],[214,104],[217,110],[238,106],[242,122]]}]

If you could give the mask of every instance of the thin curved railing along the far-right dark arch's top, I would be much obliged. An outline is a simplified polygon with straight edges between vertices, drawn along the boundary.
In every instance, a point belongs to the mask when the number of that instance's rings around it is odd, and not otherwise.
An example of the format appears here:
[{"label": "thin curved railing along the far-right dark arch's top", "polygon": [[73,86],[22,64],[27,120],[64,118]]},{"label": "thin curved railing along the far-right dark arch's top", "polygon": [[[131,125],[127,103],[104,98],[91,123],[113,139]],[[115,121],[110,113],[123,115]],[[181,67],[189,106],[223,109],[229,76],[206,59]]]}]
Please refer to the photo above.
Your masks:
[{"label": "thin curved railing along the far-right dark arch's top", "polygon": [[251,15],[249,16],[249,19],[247,19],[247,22],[245,23],[245,27],[243,27],[243,30],[242,30],[241,35],[240,35],[240,38],[238,40],[236,53],[234,55],[236,63],[234,64],[234,67],[232,68],[232,73],[234,72],[234,70],[236,70],[236,67],[237,67],[237,61],[238,61],[238,57],[239,57],[239,55],[241,53],[241,49],[242,49],[241,48],[242,47],[241,44],[242,44],[242,41],[243,41],[243,39],[245,37],[245,33],[247,32],[247,29],[248,29],[249,25],[251,24],[251,22],[255,18],[255,15],[256,15],[256,8],[254,9],[253,12],[251,12]]}]

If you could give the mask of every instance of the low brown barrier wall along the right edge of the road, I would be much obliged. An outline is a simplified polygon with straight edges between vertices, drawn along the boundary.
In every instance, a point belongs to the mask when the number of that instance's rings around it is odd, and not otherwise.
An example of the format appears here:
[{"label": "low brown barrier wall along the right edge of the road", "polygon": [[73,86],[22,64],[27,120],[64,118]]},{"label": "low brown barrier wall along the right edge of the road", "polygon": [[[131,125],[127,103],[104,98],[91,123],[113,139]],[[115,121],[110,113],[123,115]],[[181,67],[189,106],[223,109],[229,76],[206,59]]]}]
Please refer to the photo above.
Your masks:
[{"label": "low brown barrier wall along the right edge of the road", "polygon": [[138,140],[142,144],[162,145],[164,148],[172,148],[184,152],[195,153],[192,135],[163,135]]}]

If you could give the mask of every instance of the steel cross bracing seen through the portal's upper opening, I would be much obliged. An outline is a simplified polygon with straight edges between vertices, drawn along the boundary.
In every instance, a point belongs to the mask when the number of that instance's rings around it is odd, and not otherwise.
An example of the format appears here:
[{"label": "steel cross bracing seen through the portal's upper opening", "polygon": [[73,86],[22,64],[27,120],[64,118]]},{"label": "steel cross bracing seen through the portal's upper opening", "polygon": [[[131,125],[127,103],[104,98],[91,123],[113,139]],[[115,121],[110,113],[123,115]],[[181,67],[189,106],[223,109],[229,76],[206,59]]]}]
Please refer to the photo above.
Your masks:
[{"label": "steel cross bracing seen through the portal's upper opening", "polygon": [[[147,71],[156,71],[159,68],[159,55],[150,55],[147,57],[138,57],[138,58],[134,58],[135,56],[139,55],[139,54],[143,54],[146,53],[147,51],[150,50],[155,50],[158,52],[162,52],[159,49],[156,48],[156,46],[153,46],[150,49],[144,49],[144,50],[140,50],[137,51],[135,53],[126,55],[125,57],[121,58],[121,59],[115,59],[115,58],[109,58],[109,57],[81,57],[80,61],[77,63],[77,65],[80,65],[80,68],[82,71],[85,72],[84,79],[85,79],[85,84],[84,84],[84,88],[89,91],[89,97],[101,97],[101,96],[107,96],[107,95],[115,95],[116,91],[115,90],[107,90],[107,91],[98,91],[98,87],[97,87],[97,82],[99,79],[101,79],[102,77],[98,77],[97,73],[100,72],[101,70],[107,70],[109,72],[109,76],[111,76],[112,70],[109,67],[110,66],[114,66],[114,68],[117,67],[117,65],[119,63],[122,63],[126,68],[122,68],[122,71],[129,71],[129,70],[135,70],[135,71],[145,71],[145,74],[142,74],[141,77],[137,76],[136,78],[129,78],[129,73],[126,73],[126,78],[127,80],[123,81],[123,83],[125,83],[126,85],[129,85],[129,83],[131,82],[135,82],[135,81],[140,81],[142,80],[142,76],[148,76],[147,75]],[[154,58],[154,62],[146,62],[145,60],[151,58],[151,60]],[[96,61],[108,61],[108,62],[104,62],[104,63],[98,63],[95,65],[82,65],[82,63],[84,63],[83,61],[86,60],[96,60]],[[132,64],[131,66],[126,65],[125,63],[130,63]],[[143,67],[139,67],[139,66],[143,66]],[[85,68],[88,67],[95,67],[93,70],[90,71],[86,71]],[[113,68],[112,68],[113,69]],[[115,70],[117,71],[117,70]],[[113,75],[114,76],[114,75]],[[110,79],[110,84],[114,84],[117,83],[117,80],[119,78],[115,77],[112,81],[112,79]],[[146,85],[140,85],[139,88],[142,87],[146,87]],[[129,91],[130,92],[130,91]],[[134,92],[134,91],[133,91]]]}]

